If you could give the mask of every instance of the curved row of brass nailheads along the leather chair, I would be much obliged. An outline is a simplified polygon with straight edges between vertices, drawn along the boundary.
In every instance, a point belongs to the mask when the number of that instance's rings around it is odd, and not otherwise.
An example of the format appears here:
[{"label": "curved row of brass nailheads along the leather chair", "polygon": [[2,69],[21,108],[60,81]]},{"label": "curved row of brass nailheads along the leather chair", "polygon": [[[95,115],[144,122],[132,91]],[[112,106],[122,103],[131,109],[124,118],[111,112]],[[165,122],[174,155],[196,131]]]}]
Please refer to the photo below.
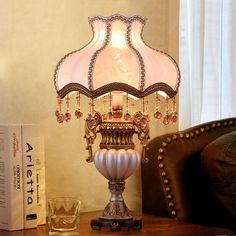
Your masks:
[{"label": "curved row of brass nailheads along the leather chair", "polygon": [[[223,124],[223,125],[222,125]],[[231,120],[226,120],[224,122],[217,122],[217,123],[210,123],[207,124],[207,125],[202,125],[202,126],[198,126],[196,128],[196,130],[192,130],[189,132],[183,132],[183,133],[176,133],[174,134],[172,137],[174,140],[178,140],[178,139],[190,139],[191,138],[194,138],[195,135],[199,136],[201,134],[204,134],[205,131],[208,131],[210,132],[211,130],[214,130],[216,128],[224,128],[226,127],[227,125],[236,125],[236,118],[235,119],[231,119]],[[179,135],[178,135],[179,134]],[[168,207],[169,207],[169,211],[170,211],[170,214],[172,217],[176,218],[177,217],[177,210],[175,209],[175,203],[173,201],[174,199],[174,195],[172,193],[172,187],[171,187],[171,183],[170,183],[170,180],[167,178],[167,171],[166,171],[166,166],[165,164],[163,163],[164,159],[165,159],[165,156],[164,156],[164,149],[167,149],[168,148],[168,145],[172,143],[172,138],[169,136],[166,138],[166,142],[162,142],[161,144],[161,148],[159,148],[158,152],[162,155],[158,155],[157,156],[157,159],[158,159],[158,167],[160,168],[161,170],[161,179],[165,185],[164,187],[164,191],[166,192],[166,198],[167,198],[167,201],[168,201]]]}]

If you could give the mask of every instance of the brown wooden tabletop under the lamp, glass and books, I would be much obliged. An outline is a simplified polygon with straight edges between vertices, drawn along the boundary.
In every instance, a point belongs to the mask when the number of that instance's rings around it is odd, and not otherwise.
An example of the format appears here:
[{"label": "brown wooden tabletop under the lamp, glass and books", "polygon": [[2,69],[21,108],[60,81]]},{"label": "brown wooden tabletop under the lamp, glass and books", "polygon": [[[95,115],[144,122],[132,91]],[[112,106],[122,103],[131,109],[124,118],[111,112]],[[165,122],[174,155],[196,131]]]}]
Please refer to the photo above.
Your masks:
[{"label": "brown wooden tabletop under the lamp, glass and books", "polygon": [[[90,220],[100,216],[100,212],[81,213],[79,223],[79,236],[103,236],[103,235],[148,235],[148,236],[210,236],[210,235],[236,235],[230,230],[222,228],[206,227],[194,224],[179,222],[177,220],[152,216],[142,215],[143,227],[142,230],[131,231],[123,230],[120,232],[111,232],[108,229],[92,230],[90,228]],[[8,232],[0,230],[0,236],[46,236],[48,228],[38,226],[37,229],[19,230]]]}]

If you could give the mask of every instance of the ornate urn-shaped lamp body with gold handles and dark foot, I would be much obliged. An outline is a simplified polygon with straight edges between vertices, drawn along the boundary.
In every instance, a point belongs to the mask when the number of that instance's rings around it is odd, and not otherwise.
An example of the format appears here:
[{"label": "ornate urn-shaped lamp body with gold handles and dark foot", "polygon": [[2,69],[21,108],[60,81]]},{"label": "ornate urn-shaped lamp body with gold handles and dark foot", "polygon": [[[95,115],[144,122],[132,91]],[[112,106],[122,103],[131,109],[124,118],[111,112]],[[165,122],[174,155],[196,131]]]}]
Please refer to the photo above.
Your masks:
[{"label": "ornate urn-shaped lamp body with gold handles and dark foot", "polygon": [[[99,121],[99,114],[96,118],[87,119],[87,134],[91,133],[90,123]],[[147,123],[147,119],[142,114],[136,114],[133,121],[104,121],[99,123],[99,132],[102,135],[100,148],[91,155],[96,169],[108,179],[111,198],[105,207],[101,217],[91,221],[92,229],[100,230],[109,227],[112,231],[120,231],[122,228],[136,229],[142,228],[141,218],[133,218],[124,202],[122,193],[125,189],[125,180],[131,176],[141,162],[141,156],[134,149],[132,141],[133,134],[138,132],[135,127],[141,122]],[[146,127],[142,123],[142,127]],[[92,123],[93,124],[93,123]],[[140,123],[141,124],[141,123]],[[140,128],[137,128],[138,130]],[[96,135],[94,131],[94,135]],[[139,133],[139,132],[138,132]],[[146,136],[141,132],[141,139]],[[88,146],[88,149],[91,146]],[[91,149],[90,149],[91,151]],[[90,152],[92,153],[92,151]]]}]

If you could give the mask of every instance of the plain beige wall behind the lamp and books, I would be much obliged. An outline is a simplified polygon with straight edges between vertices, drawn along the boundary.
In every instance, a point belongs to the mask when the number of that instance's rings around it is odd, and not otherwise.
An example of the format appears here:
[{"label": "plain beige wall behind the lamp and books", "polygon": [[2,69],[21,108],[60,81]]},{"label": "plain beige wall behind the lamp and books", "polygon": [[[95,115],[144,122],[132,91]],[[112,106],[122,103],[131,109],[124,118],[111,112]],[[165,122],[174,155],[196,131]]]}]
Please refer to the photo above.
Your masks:
[{"label": "plain beige wall behind the lamp and books", "polygon": [[[0,5],[0,122],[41,125],[48,198],[78,196],[82,211],[102,209],[109,199],[107,181],[85,161],[83,121],[59,125],[54,117],[55,65],[91,38],[88,16],[114,13],[146,16],[146,42],[178,59],[178,0],[0,0]],[[86,113],[85,99],[82,105]],[[151,121],[151,137],[173,129]],[[140,209],[139,170],[124,196],[131,209]]]}]

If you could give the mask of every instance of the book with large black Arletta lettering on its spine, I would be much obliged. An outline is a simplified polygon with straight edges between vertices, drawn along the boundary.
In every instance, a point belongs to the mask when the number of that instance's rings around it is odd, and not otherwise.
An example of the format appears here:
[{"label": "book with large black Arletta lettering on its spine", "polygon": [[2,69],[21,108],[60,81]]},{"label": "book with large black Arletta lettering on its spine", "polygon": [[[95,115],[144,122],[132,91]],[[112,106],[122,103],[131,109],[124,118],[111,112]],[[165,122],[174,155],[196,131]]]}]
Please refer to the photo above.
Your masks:
[{"label": "book with large black Arletta lettering on its spine", "polygon": [[44,138],[37,125],[22,125],[24,228],[46,223]]}]

